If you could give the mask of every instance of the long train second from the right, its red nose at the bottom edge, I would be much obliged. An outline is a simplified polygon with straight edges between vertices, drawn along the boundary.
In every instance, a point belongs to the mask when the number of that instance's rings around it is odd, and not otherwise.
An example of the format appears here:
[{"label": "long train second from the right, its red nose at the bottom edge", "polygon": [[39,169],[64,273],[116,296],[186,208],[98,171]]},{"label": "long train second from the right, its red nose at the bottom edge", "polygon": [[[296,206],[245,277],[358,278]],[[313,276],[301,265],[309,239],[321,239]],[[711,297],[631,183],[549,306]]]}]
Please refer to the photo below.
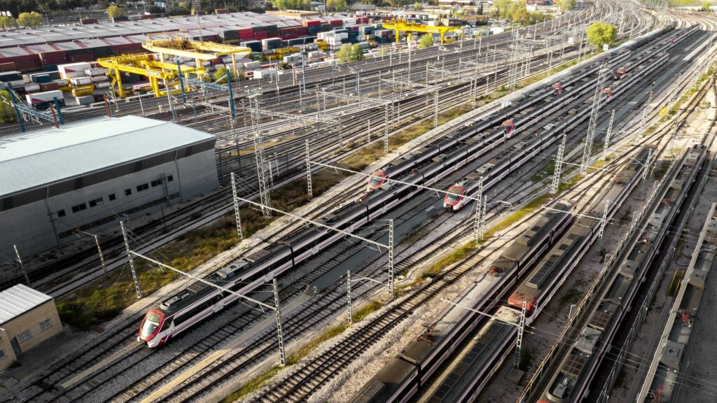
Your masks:
[{"label": "long train second from the right, its red nose at the bottom edge", "polygon": [[642,233],[625,259],[620,262],[609,286],[601,294],[599,303],[589,314],[587,325],[582,328],[577,341],[551,376],[539,403],[580,402],[589,394],[589,384],[604,354],[610,349],[619,325],[637,295],[665,240],[668,229],[677,217],[682,204],[697,178],[698,167],[706,160],[706,148],[694,146],[682,159],[678,174],[665,189],[664,196],[655,206]]}]

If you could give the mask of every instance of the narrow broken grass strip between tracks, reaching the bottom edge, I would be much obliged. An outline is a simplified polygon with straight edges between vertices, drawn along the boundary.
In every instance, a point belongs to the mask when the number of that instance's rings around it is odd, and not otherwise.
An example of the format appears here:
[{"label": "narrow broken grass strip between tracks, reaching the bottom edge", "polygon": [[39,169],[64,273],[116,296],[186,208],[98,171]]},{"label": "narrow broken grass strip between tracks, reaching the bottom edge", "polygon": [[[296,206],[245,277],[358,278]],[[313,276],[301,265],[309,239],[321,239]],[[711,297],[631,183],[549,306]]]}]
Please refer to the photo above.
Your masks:
[{"label": "narrow broken grass strip between tracks, reaching the bottom edge", "polygon": [[[366,316],[369,316],[370,313],[373,313],[376,310],[381,309],[384,304],[380,303],[379,301],[371,301],[368,305],[365,305],[363,308],[357,310],[351,315],[351,320],[353,323],[359,323],[366,318]],[[293,365],[304,359],[306,356],[308,356],[311,351],[318,348],[318,346],[321,345],[324,341],[330,340],[331,338],[334,338],[343,331],[346,331],[348,328],[348,325],[338,325],[333,326],[332,328],[329,328],[327,331],[322,333],[317,338],[314,338],[312,341],[310,341],[308,344],[303,346],[299,351],[296,351],[294,354],[290,355],[286,359],[287,366]],[[254,379],[250,380],[245,384],[243,387],[241,387],[237,392],[234,392],[232,394],[229,394],[229,396],[225,397],[223,402],[224,403],[231,403],[235,402],[238,399],[241,399],[242,397],[246,396],[247,394],[250,394],[252,392],[255,392],[259,389],[261,389],[267,381],[272,379],[281,369],[280,366],[272,366],[271,369],[265,371],[264,373],[260,374],[259,376],[256,376]]]}]

